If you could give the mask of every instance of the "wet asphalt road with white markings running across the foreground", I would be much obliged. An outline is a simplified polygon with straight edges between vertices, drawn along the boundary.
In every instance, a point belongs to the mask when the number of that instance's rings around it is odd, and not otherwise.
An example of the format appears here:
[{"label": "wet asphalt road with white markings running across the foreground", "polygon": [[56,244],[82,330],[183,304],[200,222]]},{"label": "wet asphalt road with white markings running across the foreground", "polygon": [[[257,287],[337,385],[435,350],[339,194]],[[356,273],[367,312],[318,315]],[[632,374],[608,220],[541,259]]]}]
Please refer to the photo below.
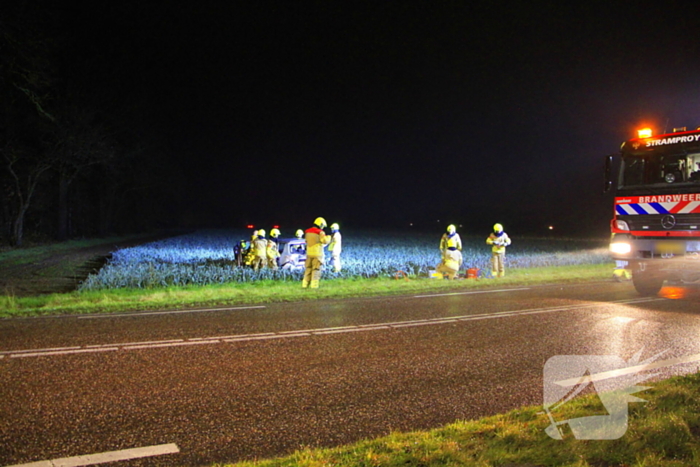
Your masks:
[{"label": "wet asphalt road with white markings running across the foreground", "polygon": [[202,465],[541,405],[553,356],[700,354],[699,305],[611,282],[0,320],[0,465],[165,444],[120,465]]}]

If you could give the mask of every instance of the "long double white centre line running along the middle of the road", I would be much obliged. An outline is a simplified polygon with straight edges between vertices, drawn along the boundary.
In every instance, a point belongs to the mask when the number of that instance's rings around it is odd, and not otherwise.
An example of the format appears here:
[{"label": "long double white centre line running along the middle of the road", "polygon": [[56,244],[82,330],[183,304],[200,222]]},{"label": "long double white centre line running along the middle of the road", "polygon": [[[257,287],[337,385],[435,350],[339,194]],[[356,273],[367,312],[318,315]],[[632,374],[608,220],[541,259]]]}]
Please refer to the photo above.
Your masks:
[{"label": "long double white centre line running along the middle of the road", "polygon": [[[512,290],[512,289],[511,289]],[[402,329],[417,326],[427,326],[435,324],[448,324],[457,323],[463,321],[477,321],[483,319],[495,319],[495,318],[510,318],[514,316],[525,316],[541,313],[556,313],[562,311],[574,311],[582,310],[587,308],[593,308],[595,306],[600,306],[602,304],[635,304],[635,303],[645,303],[652,301],[664,300],[662,298],[638,298],[631,300],[616,300],[613,302],[605,303],[586,303],[580,305],[569,305],[569,306],[554,306],[546,308],[530,308],[525,310],[509,310],[509,311],[496,311],[492,313],[480,313],[474,315],[462,315],[462,316],[446,316],[442,318],[427,318],[427,319],[416,319],[409,321],[394,321],[388,323],[375,323],[375,324],[360,324],[356,326],[337,326],[331,328],[316,328],[316,329],[300,329],[293,331],[279,331],[279,332],[264,332],[256,334],[240,334],[233,336],[214,336],[214,337],[194,337],[190,339],[168,339],[162,341],[143,341],[143,342],[126,342],[121,344],[93,344],[86,345],[82,347],[55,347],[46,349],[29,349],[29,350],[6,350],[0,352],[0,358],[25,358],[25,357],[40,357],[40,356],[54,356],[54,355],[67,355],[67,354],[78,354],[78,353],[91,353],[91,352],[107,352],[107,351],[117,351],[117,350],[142,350],[142,349],[156,349],[164,347],[181,347],[190,345],[204,345],[204,344],[220,344],[235,343],[235,342],[251,342],[251,341],[266,341],[273,339],[287,339],[292,337],[311,337],[311,336],[324,336],[333,334],[346,334],[351,332],[361,332],[361,331],[380,331],[389,329]]]}]

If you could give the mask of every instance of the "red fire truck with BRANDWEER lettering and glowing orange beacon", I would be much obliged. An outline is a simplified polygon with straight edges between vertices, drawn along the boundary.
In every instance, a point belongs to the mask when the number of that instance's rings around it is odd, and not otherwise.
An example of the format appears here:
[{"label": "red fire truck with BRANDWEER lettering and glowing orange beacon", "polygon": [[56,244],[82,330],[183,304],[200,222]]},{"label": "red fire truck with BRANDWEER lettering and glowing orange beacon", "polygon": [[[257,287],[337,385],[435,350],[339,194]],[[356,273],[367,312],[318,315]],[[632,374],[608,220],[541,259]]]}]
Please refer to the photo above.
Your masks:
[{"label": "red fire truck with BRANDWEER lettering and glowing orange beacon", "polygon": [[637,292],[700,282],[700,128],[658,136],[645,128],[605,162],[606,191],[617,173],[610,252],[627,263]]}]

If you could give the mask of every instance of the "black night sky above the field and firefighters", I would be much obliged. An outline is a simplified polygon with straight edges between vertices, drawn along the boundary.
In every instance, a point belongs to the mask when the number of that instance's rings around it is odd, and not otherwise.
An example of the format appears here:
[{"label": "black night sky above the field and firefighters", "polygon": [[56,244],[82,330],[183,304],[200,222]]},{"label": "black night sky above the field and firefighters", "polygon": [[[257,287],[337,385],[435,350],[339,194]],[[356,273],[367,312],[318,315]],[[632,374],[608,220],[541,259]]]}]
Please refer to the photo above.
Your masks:
[{"label": "black night sky above the field and firefighters", "polygon": [[603,156],[700,125],[694,2],[142,3],[66,28],[187,174],[183,222],[604,234]]}]

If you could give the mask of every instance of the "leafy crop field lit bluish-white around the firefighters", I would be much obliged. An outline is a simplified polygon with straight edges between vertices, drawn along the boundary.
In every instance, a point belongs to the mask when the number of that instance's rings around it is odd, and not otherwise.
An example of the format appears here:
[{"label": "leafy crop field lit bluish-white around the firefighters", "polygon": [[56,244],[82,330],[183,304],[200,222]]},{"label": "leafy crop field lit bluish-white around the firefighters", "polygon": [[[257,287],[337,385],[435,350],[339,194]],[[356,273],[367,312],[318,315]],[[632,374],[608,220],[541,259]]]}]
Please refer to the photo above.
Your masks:
[{"label": "leafy crop field lit bluish-white around the firefighters", "polygon": [[[440,262],[441,234],[413,232],[343,232],[343,270],[324,272],[334,277],[386,277],[397,271],[427,277]],[[110,262],[89,276],[80,290],[158,288],[248,282],[260,279],[300,280],[301,271],[263,269],[258,272],[234,264],[233,245],[250,238],[243,230],[202,231],[134,248],[115,251]],[[462,237],[466,268],[488,269],[490,249],[486,236]],[[602,240],[513,238],[506,267],[530,268],[602,264],[610,257]]]}]

